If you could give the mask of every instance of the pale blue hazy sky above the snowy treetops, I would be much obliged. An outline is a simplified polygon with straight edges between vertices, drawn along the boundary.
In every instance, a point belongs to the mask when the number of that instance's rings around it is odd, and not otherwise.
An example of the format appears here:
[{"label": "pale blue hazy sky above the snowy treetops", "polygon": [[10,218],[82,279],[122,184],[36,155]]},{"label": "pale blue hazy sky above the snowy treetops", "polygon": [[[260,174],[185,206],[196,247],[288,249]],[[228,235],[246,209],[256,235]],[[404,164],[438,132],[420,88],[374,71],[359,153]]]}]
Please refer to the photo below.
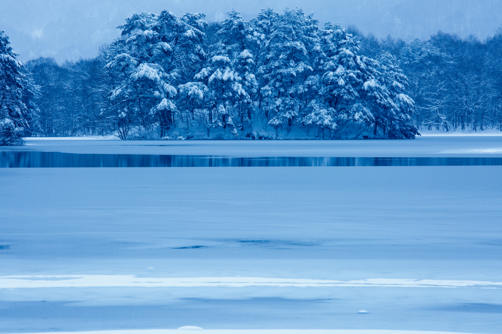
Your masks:
[{"label": "pale blue hazy sky above the snowy treetops", "polygon": [[52,57],[62,63],[95,57],[135,13],[204,13],[211,22],[231,9],[252,19],[266,8],[301,8],[321,25],[355,25],[364,34],[405,41],[427,40],[439,30],[483,40],[502,26],[501,0],[0,0],[0,31],[19,60]]}]

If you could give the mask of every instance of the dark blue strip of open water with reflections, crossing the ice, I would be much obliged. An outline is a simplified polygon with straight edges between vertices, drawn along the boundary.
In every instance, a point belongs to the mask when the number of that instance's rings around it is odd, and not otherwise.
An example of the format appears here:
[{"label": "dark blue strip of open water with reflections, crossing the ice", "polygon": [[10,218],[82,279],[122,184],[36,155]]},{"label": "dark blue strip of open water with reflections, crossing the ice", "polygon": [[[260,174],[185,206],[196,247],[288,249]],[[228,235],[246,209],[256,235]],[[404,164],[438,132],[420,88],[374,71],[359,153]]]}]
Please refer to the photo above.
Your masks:
[{"label": "dark blue strip of open water with reflections, crossing the ice", "polygon": [[276,166],[500,166],[502,157],[229,157],[211,155],[0,152],[0,168],[51,167],[276,167]]}]

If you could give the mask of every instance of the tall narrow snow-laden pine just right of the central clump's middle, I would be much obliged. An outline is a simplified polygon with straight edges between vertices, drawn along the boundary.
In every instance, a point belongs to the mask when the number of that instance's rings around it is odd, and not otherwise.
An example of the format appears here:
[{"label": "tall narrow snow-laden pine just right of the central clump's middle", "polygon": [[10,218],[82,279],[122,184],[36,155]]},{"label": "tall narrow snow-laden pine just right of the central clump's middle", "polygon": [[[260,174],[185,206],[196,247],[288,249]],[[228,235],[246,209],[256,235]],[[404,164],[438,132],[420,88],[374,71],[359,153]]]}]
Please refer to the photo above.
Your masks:
[{"label": "tall narrow snow-laden pine just right of the central clump's middle", "polygon": [[318,21],[302,10],[286,10],[268,36],[267,61],[258,72],[265,86],[261,87],[269,124],[289,131],[299,117],[306,114],[312,85],[317,83],[313,68],[320,51],[317,39]]}]

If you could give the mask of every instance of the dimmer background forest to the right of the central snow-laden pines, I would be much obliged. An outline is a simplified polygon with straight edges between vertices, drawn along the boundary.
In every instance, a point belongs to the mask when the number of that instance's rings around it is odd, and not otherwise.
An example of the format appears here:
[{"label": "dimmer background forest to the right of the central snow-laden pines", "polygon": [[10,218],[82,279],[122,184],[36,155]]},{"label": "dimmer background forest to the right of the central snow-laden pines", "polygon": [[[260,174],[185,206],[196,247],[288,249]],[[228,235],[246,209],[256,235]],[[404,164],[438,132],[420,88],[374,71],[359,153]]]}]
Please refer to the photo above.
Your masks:
[{"label": "dimmer background forest to the right of the central snow-laden pines", "polygon": [[429,41],[378,41],[349,27],[368,56],[395,55],[415,101],[414,123],[443,131],[502,130],[502,30],[484,42],[438,32]]}]

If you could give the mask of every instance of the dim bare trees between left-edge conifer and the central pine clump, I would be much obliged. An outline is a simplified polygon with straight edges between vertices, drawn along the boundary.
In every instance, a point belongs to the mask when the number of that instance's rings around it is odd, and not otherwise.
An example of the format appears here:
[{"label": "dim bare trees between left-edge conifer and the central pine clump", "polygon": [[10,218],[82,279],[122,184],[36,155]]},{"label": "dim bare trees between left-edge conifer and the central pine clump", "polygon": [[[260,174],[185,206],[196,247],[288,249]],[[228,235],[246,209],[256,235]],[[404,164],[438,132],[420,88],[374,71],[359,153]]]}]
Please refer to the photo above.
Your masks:
[{"label": "dim bare trees between left-edge conifer and the central pine clump", "polygon": [[65,62],[61,66],[52,58],[30,60],[25,68],[39,85],[37,122],[34,135],[74,136],[107,135],[116,129],[114,119],[101,112],[107,103],[105,59]]}]

